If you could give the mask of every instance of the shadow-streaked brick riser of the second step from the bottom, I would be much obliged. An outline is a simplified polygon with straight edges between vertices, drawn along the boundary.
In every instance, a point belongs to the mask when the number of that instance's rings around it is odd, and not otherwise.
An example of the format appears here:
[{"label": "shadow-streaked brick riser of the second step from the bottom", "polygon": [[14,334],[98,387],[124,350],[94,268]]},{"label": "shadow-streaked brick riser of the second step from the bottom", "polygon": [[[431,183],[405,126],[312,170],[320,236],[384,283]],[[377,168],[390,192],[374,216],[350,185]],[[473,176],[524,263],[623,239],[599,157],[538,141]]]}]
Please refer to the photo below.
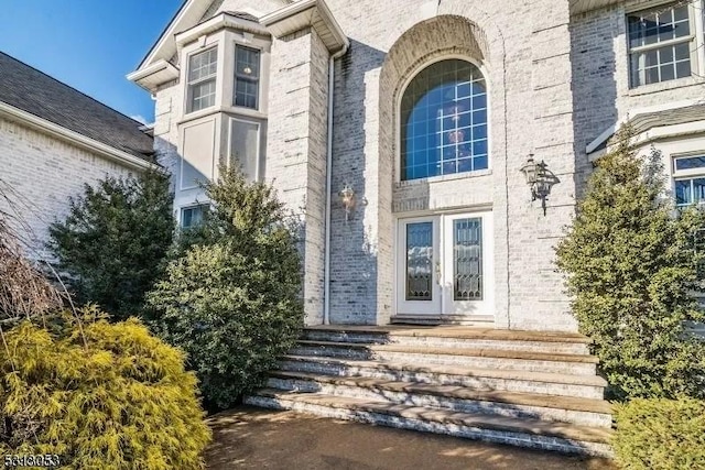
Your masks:
[{"label": "shadow-streaked brick riser of the second step from the bottom", "polygon": [[327,395],[386,401],[390,404],[424,406],[431,408],[453,409],[462,413],[478,413],[512,418],[542,419],[558,423],[572,423],[593,427],[611,427],[610,415],[590,412],[546,408],[541,406],[514,405],[497,402],[451,398],[437,395],[409,392],[393,392],[360,386],[317,383],[310,380],[279,379],[269,380],[270,387],[280,390],[299,390],[300,392],[325,393]]}]

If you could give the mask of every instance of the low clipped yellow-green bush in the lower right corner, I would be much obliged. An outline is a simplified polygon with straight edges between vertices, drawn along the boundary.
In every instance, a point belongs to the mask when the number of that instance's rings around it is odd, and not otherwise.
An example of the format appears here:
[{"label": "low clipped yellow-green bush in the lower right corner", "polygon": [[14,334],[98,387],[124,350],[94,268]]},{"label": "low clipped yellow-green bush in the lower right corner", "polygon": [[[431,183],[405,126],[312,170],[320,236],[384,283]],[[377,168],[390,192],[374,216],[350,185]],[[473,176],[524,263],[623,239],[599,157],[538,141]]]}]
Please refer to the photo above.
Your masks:
[{"label": "low clipped yellow-green bush in the lower right corner", "polygon": [[637,398],[616,408],[614,448],[628,470],[705,469],[705,401]]}]

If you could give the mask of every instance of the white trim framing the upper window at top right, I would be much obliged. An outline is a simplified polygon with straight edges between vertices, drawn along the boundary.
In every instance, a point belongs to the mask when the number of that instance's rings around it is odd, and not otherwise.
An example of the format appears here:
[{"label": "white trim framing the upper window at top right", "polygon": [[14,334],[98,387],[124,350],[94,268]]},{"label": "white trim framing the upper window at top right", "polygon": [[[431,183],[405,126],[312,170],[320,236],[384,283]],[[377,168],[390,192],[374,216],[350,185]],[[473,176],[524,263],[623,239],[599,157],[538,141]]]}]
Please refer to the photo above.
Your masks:
[{"label": "white trim framing the upper window at top right", "polygon": [[[647,8],[639,8],[638,10],[627,10],[625,11],[625,23],[626,23],[626,40],[627,40],[627,68],[629,76],[629,89],[636,90],[641,89],[643,87],[653,86],[657,84],[668,84],[684,79],[692,79],[694,77],[705,77],[705,20],[703,19],[705,14],[705,0],[692,0],[687,3],[688,9],[688,23],[691,25],[691,34],[683,37],[676,37],[673,40],[664,41],[661,43],[647,44],[643,46],[631,47],[630,37],[629,37],[629,17],[639,14],[639,13],[649,13],[657,10],[665,10],[674,7],[679,2],[670,1],[659,4],[652,4]],[[674,46],[677,44],[688,43],[691,44],[691,76],[690,77],[680,77],[671,80],[657,81],[653,84],[641,84],[638,85],[634,83],[634,77],[632,75],[631,69],[631,57],[632,54],[638,54],[647,51],[659,50],[662,47]]]}]

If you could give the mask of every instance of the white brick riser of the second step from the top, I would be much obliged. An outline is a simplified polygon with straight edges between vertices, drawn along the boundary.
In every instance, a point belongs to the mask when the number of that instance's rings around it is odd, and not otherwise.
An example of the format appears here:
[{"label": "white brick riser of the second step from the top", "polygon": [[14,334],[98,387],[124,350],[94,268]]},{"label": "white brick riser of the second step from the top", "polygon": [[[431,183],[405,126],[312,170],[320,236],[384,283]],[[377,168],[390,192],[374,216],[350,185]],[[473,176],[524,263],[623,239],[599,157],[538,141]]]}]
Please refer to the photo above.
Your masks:
[{"label": "white brick riser of the second step from the top", "polygon": [[370,351],[361,348],[296,347],[293,356],[334,357],[340,359],[382,360],[409,364],[465,365],[480,369],[500,369],[530,372],[550,372],[573,375],[595,375],[594,363],[541,361],[510,358],[488,358],[452,354],[421,354],[398,351]]}]

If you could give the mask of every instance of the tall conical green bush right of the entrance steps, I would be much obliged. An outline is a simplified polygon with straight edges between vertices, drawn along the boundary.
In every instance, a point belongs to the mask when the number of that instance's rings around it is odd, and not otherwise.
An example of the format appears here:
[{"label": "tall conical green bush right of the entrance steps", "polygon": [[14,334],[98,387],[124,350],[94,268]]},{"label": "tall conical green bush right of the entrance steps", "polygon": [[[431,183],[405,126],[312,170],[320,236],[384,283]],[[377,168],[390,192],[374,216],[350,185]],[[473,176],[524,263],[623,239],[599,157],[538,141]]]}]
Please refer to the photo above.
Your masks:
[{"label": "tall conical green bush right of the entrance steps", "polygon": [[638,157],[630,135],[622,130],[597,161],[557,265],[614,397],[703,397],[705,342],[685,321],[703,319],[691,293],[704,217],[694,209],[674,217],[659,155]]}]

